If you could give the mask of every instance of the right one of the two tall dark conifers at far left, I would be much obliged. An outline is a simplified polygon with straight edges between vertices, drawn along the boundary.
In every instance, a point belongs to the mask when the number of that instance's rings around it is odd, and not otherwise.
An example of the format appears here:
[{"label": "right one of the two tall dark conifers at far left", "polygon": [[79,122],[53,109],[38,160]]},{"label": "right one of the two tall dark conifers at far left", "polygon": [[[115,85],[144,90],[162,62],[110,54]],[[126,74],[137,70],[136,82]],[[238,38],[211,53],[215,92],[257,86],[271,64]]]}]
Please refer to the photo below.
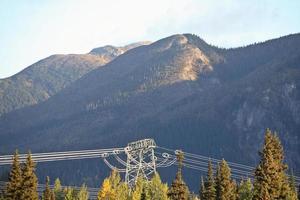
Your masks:
[{"label": "right one of the two tall dark conifers at far left", "polygon": [[38,180],[35,175],[35,164],[29,152],[23,169],[22,195],[20,200],[38,200],[37,185]]}]

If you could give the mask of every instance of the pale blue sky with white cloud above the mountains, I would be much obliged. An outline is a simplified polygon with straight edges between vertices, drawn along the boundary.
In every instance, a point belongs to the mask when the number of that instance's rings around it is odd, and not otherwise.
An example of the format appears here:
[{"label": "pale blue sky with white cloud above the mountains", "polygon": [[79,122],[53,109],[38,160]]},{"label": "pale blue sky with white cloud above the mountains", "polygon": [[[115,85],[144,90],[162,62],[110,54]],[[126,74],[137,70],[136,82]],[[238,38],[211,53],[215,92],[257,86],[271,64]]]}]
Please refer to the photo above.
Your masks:
[{"label": "pale blue sky with white cloud above the mountains", "polygon": [[300,32],[299,0],[0,0],[0,78],[52,54],[193,33],[237,47]]}]

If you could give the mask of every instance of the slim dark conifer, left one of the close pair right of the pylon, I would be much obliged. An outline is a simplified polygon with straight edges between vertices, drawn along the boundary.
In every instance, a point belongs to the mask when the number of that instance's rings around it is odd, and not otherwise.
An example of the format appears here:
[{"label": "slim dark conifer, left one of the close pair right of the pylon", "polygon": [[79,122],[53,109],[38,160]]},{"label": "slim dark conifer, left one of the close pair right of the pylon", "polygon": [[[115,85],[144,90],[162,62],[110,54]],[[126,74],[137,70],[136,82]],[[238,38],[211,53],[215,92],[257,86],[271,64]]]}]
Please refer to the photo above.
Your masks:
[{"label": "slim dark conifer, left one of the close pair right of the pylon", "polygon": [[216,199],[216,186],[213,174],[211,161],[208,162],[207,177],[204,182],[204,191],[202,192],[202,200],[215,200]]}]

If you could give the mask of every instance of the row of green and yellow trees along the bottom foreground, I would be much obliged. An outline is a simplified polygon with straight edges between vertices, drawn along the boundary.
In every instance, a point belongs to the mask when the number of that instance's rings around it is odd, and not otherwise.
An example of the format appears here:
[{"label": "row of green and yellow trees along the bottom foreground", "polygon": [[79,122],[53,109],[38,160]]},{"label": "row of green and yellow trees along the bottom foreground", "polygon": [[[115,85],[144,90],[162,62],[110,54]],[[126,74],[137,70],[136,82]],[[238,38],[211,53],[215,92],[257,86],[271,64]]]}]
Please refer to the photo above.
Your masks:
[{"label": "row of green and yellow trees along the bottom foreground", "polygon": [[[178,171],[171,185],[163,183],[158,173],[151,180],[138,177],[129,187],[121,180],[117,171],[105,178],[98,191],[98,200],[297,200],[296,181],[287,174],[288,166],[283,162],[284,152],[279,138],[269,129],[265,133],[264,145],[259,152],[260,162],[254,179],[236,182],[231,178],[231,169],[223,159],[214,171],[208,163],[206,177],[199,179],[199,193],[189,192],[182,174],[184,153],[177,154]],[[18,151],[14,154],[9,182],[0,195],[0,200],[87,200],[89,192],[85,184],[80,189],[62,188],[59,179],[50,187],[49,177],[42,197],[38,194],[38,179],[30,153],[26,163],[19,163]]]}]

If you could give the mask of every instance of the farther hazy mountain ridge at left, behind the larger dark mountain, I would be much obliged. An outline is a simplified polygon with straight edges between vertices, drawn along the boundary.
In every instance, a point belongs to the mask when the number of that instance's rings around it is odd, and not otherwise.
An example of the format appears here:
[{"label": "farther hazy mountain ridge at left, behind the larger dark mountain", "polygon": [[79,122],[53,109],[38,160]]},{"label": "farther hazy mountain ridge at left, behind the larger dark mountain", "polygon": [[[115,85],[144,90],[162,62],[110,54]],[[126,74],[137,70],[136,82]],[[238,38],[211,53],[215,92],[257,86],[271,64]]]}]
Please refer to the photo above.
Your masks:
[{"label": "farther hazy mountain ridge at left, behind the larger dark mountain", "polygon": [[104,46],[89,54],[53,55],[12,77],[0,79],[0,116],[45,101],[89,71],[144,44],[149,42],[124,47]]}]

